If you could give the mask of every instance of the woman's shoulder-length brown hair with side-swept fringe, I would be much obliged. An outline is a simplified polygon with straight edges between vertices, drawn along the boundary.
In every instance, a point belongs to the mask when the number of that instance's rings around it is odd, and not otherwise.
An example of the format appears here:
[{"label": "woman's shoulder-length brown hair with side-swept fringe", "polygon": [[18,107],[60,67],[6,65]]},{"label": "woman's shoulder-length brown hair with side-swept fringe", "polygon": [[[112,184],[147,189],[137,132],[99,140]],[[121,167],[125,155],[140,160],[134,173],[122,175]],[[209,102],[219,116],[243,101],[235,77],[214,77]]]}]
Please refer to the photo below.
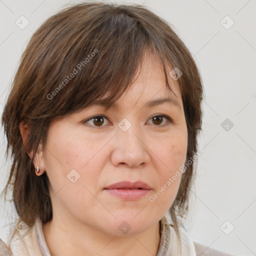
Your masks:
[{"label": "woman's shoulder-length brown hair with side-swept fringe", "polygon": [[[6,157],[9,148],[13,156],[4,188],[5,200],[7,187],[12,185],[15,209],[29,227],[38,215],[42,223],[52,218],[48,177],[46,172],[37,176],[33,166],[39,142],[44,145],[46,141],[50,122],[105,94],[105,102],[110,106],[129,88],[146,50],[153,52],[162,64],[170,92],[166,67],[171,65],[182,71],[177,81],[188,131],[186,160],[191,159],[201,129],[202,82],[193,57],[170,24],[141,5],[90,2],[54,14],[31,37],[1,119],[7,137]],[[72,78],[71,73],[75,74]],[[20,121],[29,127],[25,144]],[[31,151],[30,158],[27,152]],[[169,209],[179,241],[176,227],[183,225],[177,216],[184,218],[188,211],[193,166],[189,164],[182,175]]]}]

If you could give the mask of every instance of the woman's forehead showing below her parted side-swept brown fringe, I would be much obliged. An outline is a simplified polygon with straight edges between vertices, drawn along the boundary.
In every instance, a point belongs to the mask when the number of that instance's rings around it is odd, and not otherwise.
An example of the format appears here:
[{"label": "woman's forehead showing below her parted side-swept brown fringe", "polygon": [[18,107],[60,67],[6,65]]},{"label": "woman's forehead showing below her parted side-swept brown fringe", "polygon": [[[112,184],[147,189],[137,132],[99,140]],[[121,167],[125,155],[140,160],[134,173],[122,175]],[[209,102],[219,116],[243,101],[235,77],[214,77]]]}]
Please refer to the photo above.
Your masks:
[{"label": "woman's forehead showing below her parted side-swept brown fringe", "polygon": [[[170,65],[166,66],[167,73],[171,69]],[[129,87],[116,101],[111,101],[112,93],[106,92],[105,96],[96,98],[90,105],[99,105],[106,109],[112,108],[117,110],[125,104],[132,107],[138,105],[138,107],[146,108],[168,104],[171,107],[178,108],[178,110],[182,109],[178,81],[171,79],[170,76],[167,77],[172,90],[170,91],[166,84],[163,66],[154,54],[148,52],[144,54],[141,64],[133,77]]]}]

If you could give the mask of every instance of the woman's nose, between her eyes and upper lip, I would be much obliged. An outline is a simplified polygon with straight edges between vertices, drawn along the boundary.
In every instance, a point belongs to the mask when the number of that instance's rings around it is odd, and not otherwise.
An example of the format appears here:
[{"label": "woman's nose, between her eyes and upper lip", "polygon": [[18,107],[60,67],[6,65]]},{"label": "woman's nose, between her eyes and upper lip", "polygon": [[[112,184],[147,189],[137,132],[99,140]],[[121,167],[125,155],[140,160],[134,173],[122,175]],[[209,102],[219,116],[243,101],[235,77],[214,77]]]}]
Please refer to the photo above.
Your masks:
[{"label": "woman's nose, between her eyes and upper lip", "polygon": [[112,164],[126,165],[128,168],[141,168],[146,165],[150,157],[142,132],[135,125],[131,125],[126,131],[118,127],[116,132],[113,137]]}]

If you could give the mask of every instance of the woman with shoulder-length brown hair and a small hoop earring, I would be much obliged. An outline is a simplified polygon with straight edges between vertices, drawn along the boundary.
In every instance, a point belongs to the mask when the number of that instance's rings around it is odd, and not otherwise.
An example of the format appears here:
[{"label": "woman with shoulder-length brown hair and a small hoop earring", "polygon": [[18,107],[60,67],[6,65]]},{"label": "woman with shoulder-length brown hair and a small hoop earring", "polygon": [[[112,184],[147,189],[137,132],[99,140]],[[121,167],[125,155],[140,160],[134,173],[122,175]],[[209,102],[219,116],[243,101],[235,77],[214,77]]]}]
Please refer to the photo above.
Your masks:
[{"label": "woman with shoulder-length brown hair and a small hoop earring", "polygon": [[182,222],[202,92],[188,49],[142,6],[48,18],[2,114],[20,218],[1,255],[227,255]]}]

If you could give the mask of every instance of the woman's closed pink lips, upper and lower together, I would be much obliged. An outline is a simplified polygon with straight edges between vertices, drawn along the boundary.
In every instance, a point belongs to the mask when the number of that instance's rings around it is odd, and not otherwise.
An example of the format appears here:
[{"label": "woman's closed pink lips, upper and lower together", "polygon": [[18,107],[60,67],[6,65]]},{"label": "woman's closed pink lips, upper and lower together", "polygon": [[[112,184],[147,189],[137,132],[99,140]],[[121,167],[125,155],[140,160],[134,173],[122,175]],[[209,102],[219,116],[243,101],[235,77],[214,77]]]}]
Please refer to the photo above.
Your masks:
[{"label": "woman's closed pink lips, upper and lower together", "polygon": [[125,200],[139,199],[147,195],[151,189],[147,183],[140,180],[136,182],[121,181],[104,188],[111,195]]}]

